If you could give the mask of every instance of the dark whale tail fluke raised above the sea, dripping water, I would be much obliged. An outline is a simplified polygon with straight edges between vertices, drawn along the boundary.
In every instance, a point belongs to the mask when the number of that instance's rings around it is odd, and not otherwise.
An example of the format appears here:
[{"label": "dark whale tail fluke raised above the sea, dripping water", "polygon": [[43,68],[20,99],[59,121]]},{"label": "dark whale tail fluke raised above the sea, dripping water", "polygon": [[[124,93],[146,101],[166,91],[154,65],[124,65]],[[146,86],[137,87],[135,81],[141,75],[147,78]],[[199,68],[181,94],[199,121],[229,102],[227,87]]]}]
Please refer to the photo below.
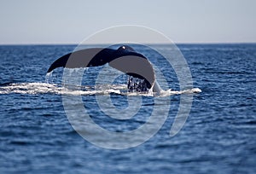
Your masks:
[{"label": "dark whale tail fluke raised above the sea, dripping water", "polygon": [[148,89],[151,89],[154,84],[157,85],[155,82],[154,68],[150,61],[144,55],[137,53],[127,45],[120,46],[119,49],[93,48],[68,53],[54,61],[50,65],[47,73],[52,72],[57,67],[98,67],[107,63],[110,67],[134,78],[143,79]]}]

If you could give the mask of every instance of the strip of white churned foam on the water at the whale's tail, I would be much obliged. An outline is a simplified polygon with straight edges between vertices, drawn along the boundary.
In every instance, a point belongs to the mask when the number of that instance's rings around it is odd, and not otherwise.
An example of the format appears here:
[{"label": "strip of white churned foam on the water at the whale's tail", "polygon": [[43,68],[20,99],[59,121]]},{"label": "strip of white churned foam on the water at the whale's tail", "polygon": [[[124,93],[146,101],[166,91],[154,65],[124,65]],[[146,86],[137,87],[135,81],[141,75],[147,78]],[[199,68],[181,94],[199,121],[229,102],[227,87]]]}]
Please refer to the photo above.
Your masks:
[{"label": "strip of white churned foam on the water at the whale's tail", "polygon": [[[90,96],[90,95],[122,95],[122,96],[156,96],[153,92],[128,92],[125,84],[102,84],[98,86],[75,86],[48,83],[17,83],[0,86],[0,94],[51,94],[51,95],[73,95],[73,96]],[[157,96],[172,96],[180,94],[200,93],[199,88],[191,90],[162,90]]]}]

